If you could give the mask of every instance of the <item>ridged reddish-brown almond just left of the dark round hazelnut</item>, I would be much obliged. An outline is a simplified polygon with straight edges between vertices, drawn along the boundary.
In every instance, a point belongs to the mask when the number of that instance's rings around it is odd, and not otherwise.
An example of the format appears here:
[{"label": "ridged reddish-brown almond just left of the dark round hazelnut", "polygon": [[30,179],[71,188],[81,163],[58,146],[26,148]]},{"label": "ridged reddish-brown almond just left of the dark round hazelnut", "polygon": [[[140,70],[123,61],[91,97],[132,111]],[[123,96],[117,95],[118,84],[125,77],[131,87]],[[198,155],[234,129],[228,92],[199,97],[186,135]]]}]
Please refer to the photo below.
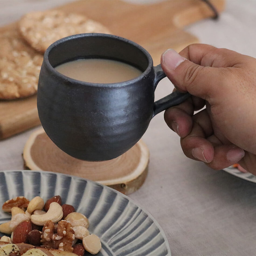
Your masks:
[{"label": "ridged reddish-brown almond just left of the dark round hazelnut", "polygon": [[18,243],[28,243],[28,234],[32,230],[32,224],[30,221],[23,221],[18,224],[18,226],[13,231],[12,242],[14,244]]}]

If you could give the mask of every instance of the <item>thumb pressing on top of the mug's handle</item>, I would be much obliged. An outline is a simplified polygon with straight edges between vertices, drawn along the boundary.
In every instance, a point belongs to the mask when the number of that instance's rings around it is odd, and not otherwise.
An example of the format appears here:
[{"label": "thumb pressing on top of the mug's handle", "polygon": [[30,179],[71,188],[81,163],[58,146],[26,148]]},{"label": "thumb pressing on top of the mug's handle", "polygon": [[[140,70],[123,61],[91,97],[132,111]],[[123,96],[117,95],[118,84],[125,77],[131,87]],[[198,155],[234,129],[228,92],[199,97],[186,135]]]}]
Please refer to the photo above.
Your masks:
[{"label": "thumb pressing on top of the mug's handle", "polygon": [[189,92],[205,100],[209,100],[209,97],[216,97],[218,88],[226,80],[224,68],[197,65],[172,49],[162,54],[161,65],[177,90]]}]

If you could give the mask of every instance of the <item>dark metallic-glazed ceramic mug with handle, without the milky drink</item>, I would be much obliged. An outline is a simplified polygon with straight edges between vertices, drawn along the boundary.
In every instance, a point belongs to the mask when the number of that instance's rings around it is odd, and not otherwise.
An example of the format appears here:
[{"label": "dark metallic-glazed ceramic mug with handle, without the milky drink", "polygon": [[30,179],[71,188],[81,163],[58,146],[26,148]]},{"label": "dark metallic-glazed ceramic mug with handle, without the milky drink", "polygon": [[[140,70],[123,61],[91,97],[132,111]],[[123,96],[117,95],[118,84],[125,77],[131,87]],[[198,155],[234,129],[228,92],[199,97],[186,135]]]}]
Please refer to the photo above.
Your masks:
[{"label": "dark metallic-glazed ceramic mug with handle, without the milky drink", "polygon": [[[123,61],[142,74],[103,84],[78,81],[54,69],[81,58]],[[155,88],[164,77],[150,54],[125,38],[97,33],[63,38],[44,54],[37,94],[40,121],[50,139],[75,158],[116,158],[140,140],[156,114],[189,96],[174,92],[154,102]]]}]

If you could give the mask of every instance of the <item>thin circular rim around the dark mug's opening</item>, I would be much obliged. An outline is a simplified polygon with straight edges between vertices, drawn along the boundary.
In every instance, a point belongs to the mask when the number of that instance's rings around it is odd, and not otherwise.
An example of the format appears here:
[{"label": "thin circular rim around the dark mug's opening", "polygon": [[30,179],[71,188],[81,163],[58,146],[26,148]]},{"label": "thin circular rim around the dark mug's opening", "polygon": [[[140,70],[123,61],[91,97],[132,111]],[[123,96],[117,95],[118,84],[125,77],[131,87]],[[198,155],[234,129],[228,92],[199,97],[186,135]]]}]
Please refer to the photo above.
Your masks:
[{"label": "thin circular rim around the dark mug's opening", "polygon": [[[114,39],[117,39],[117,40],[120,40],[120,41],[123,41],[123,42],[126,42],[126,43],[130,43],[131,45],[133,45],[134,47],[137,47],[139,50],[141,50],[141,52],[143,52],[143,54],[147,57],[148,59],[148,67],[147,69],[145,69],[141,75],[133,78],[133,79],[130,79],[130,80],[126,80],[126,81],[123,81],[123,82],[118,82],[118,83],[90,83],[90,82],[85,82],[85,81],[81,81],[81,80],[77,80],[77,79],[73,79],[69,76],[65,76],[63,74],[61,74],[60,72],[58,72],[51,64],[50,64],[50,61],[49,61],[49,54],[50,54],[50,51],[52,49],[54,49],[55,47],[58,46],[58,44],[60,43],[64,43],[66,41],[69,41],[69,40],[72,40],[72,39],[76,39],[76,38],[79,38],[79,37],[87,37],[87,36],[101,36],[101,37],[109,37],[109,38],[114,38]],[[77,83],[79,82],[79,84],[86,84],[87,86],[99,86],[99,87],[104,87],[104,86],[108,86],[108,87],[111,87],[112,85],[113,86],[117,86],[119,85],[120,87],[121,86],[125,86],[127,84],[130,84],[130,83],[133,83],[133,82],[136,82],[136,81],[139,81],[143,76],[145,76],[146,74],[148,74],[150,71],[151,71],[151,67],[153,67],[153,59],[151,57],[151,55],[149,54],[149,52],[144,48],[142,47],[141,45],[129,40],[129,39],[126,39],[124,37],[121,37],[121,36],[115,36],[115,35],[112,35],[112,34],[103,34],[103,33],[83,33],[83,34],[76,34],[76,35],[72,35],[72,36],[66,36],[64,38],[61,38],[60,40],[57,40],[56,42],[52,43],[48,48],[47,50],[45,51],[44,53],[44,57],[43,57],[43,61],[47,67],[47,69],[49,69],[51,72],[57,74],[58,76],[64,78],[65,80],[69,80],[71,83]]]}]

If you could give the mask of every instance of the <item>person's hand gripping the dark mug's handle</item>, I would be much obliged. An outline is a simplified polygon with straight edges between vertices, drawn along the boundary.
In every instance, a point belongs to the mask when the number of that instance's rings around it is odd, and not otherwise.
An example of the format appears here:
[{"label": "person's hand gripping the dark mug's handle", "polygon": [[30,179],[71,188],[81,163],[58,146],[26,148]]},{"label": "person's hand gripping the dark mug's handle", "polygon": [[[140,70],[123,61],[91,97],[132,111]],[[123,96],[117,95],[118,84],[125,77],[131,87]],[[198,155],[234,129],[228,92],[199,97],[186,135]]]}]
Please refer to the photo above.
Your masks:
[{"label": "person's hand gripping the dark mug's handle", "polygon": [[193,44],[180,54],[167,50],[161,64],[175,88],[192,95],[165,112],[184,154],[213,169],[239,163],[256,174],[256,59]]}]

